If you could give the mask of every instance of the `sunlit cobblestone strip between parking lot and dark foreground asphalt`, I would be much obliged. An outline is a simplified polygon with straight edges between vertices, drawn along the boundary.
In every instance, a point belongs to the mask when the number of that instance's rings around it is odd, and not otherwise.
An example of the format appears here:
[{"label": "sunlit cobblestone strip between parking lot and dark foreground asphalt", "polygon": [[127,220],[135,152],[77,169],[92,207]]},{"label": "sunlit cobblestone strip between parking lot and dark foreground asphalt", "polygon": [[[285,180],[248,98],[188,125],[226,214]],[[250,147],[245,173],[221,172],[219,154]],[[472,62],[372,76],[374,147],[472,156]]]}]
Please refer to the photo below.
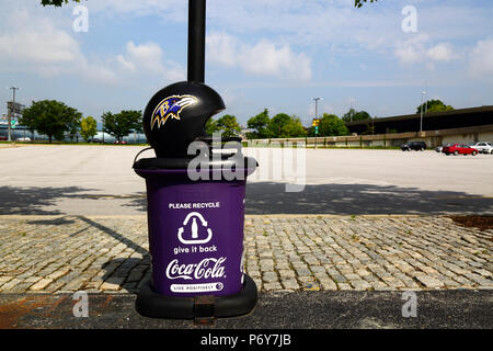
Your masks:
[{"label": "sunlit cobblestone strip between parking lot and dark foreground asphalt", "polygon": [[[440,216],[246,216],[261,291],[493,288],[493,230]],[[135,293],[145,216],[0,216],[0,293]]]}]

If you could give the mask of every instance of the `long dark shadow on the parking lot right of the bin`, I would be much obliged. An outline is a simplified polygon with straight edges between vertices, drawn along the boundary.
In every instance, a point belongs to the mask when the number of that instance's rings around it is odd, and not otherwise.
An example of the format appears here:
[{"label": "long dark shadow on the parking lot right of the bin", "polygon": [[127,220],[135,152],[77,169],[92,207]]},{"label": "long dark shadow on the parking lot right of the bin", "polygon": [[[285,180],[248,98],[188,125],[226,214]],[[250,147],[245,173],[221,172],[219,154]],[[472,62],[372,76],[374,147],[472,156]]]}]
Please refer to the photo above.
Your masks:
[{"label": "long dark shadow on the parking lot right of the bin", "polygon": [[492,213],[493,199],[452,191],[371,184],[306,185],[285,192],[283,183],[249,183],[245,213],[262,214],[449,214]]}]

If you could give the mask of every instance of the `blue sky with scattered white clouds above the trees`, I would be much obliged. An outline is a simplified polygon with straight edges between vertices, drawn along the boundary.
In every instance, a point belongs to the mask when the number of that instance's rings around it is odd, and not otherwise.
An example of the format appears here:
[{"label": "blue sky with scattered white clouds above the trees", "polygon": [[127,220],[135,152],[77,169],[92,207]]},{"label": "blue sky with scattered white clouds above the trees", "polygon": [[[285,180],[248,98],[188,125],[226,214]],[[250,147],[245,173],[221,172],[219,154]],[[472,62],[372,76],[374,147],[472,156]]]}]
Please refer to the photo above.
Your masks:
[{"label": "blue sky with scattered white clouds above the trees", "polygon": [[[9,87],[23,104],[59,100],[100,121],[186,80],[187,1],[39,3],[0,0],[2,114]],[[205,82],[227,106],[216,117],[242,124],[268,109],[309,125],[313,98],[339,116],[414,113],[424,90],[492,105],[492,18],[491,0],[208,0]]]}]

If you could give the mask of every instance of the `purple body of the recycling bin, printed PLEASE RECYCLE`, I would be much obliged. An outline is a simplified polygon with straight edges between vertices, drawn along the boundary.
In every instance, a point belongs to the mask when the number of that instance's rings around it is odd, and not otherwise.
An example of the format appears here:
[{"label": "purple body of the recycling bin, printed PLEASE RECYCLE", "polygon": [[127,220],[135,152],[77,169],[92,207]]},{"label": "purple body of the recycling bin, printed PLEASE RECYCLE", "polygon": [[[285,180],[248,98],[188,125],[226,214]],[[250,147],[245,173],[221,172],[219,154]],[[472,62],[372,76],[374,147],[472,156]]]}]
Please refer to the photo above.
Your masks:
[{"label": "purple body of the recycling bin, printed PLEASE RECYCLE", "polygon": [[240,292],[245,180],[191,181],[186,169],[135,171],[147,184],[154,291],[186,297]]}]

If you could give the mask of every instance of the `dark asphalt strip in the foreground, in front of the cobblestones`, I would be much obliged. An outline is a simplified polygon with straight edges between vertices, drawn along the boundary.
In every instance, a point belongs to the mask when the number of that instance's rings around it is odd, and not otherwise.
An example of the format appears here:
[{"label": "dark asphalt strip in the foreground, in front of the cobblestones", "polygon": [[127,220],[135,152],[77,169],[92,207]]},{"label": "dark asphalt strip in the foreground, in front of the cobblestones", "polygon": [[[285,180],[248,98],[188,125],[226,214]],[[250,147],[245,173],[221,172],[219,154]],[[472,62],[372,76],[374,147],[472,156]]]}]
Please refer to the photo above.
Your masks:
[{"label": "dark asphalt strip in the foreground, in front of the cobblestones", "polygon": [[[215,329],[477,329],[493,327],[491,291],[416,292],[415,317],[403,292],[263,293],[248,316],[216,319]],[[403,298],[404,297],[404,298]],[[0,328],[180,328],[192,320],[140,316],[135,295],[89,294],[89,317],[74,317],[71,294],[0,294]],[[408,312],[408,314],[403,309]],[[405,317],[408,316],[408,317]]]}]

